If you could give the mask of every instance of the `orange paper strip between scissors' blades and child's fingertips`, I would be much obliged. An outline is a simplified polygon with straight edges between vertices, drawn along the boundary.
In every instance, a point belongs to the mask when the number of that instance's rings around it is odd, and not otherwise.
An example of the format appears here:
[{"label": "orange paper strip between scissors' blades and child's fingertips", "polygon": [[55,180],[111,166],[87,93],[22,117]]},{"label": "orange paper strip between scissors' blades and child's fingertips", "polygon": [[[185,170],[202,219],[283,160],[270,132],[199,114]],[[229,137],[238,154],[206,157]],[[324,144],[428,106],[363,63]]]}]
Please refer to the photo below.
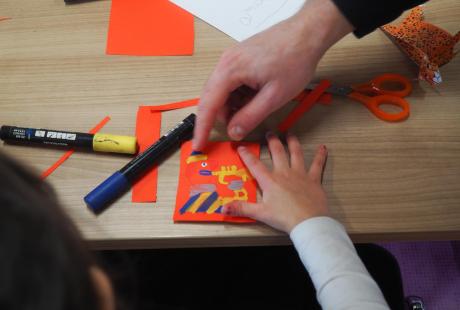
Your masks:
[{"label": "orange paper strip between scissors' blades and child's fingertips", "polygon": [[278,125],[278,130],[282,133],[288,131],[302,117],[304,113],[310,110],[324,92],[331,86],[328,80],[321,81],[318,86],[313,89],[302,102],[300,102],[294,110]]}]

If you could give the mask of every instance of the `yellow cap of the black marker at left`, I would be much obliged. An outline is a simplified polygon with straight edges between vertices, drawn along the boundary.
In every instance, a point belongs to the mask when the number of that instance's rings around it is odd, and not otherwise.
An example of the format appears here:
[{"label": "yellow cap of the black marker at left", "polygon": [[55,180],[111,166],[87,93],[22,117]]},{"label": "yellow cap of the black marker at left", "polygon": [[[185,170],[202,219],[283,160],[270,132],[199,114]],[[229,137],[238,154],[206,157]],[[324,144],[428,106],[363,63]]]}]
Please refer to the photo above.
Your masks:
[{"label": "yellow cap of the black marker at left", "polygon": [[93,138],[93,150],[96,152],[136,154],[137,139],[131,136],[97,133]]}]

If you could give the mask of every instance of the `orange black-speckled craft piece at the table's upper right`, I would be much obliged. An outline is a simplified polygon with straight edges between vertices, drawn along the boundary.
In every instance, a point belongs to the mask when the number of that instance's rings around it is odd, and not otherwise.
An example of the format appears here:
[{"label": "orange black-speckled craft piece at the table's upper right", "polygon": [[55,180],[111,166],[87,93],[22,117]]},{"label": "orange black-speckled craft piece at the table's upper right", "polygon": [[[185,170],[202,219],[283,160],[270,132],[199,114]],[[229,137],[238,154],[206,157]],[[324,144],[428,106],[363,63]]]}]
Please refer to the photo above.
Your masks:
[{"label": "orange black-speckled craft piece at the table's upper right", "polygon": [[442,82],[439,67],[456,55],[460,32],[449,32],[423,21],[421,6],[413,9],[398,26],[385,25],[382,31],[420,68],[419,79],[435,85]]}]

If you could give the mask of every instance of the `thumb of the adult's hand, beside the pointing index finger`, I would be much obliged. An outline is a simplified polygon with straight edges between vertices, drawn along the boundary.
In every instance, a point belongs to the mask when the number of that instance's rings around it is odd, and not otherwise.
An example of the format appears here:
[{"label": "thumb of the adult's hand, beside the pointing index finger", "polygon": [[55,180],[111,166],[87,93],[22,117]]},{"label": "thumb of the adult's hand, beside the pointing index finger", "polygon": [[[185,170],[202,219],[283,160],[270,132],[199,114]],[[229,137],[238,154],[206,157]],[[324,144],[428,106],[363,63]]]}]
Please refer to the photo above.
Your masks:
[{"label": "thumb of the adult's hand, beside the pointing index finger", "polygon": [[270,113],[281,106],[283,97],[277,83],[262,87],[247,105],[237,111],[228,124],[227,131],[234,140],[243,139],[257,127]]}]

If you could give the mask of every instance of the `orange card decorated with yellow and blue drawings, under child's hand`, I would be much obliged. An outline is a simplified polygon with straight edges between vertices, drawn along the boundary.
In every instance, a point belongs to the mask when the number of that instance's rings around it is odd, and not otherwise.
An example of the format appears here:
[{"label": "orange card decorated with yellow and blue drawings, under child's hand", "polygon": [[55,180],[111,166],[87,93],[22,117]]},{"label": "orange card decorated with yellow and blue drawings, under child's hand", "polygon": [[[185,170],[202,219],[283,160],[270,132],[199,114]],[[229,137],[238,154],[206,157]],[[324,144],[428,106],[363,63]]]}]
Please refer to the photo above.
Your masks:
[{"label": "orange card decorated with yellow and blue drawings, under child's hand", "polygon": [[254,222],[222,214],[231,201],[257,201],[257,183],[238,155],[239,145],[260,156],[257,143],[209,142],[203,152],[193,151],[190,141],[182,145],[174,221]]}]

